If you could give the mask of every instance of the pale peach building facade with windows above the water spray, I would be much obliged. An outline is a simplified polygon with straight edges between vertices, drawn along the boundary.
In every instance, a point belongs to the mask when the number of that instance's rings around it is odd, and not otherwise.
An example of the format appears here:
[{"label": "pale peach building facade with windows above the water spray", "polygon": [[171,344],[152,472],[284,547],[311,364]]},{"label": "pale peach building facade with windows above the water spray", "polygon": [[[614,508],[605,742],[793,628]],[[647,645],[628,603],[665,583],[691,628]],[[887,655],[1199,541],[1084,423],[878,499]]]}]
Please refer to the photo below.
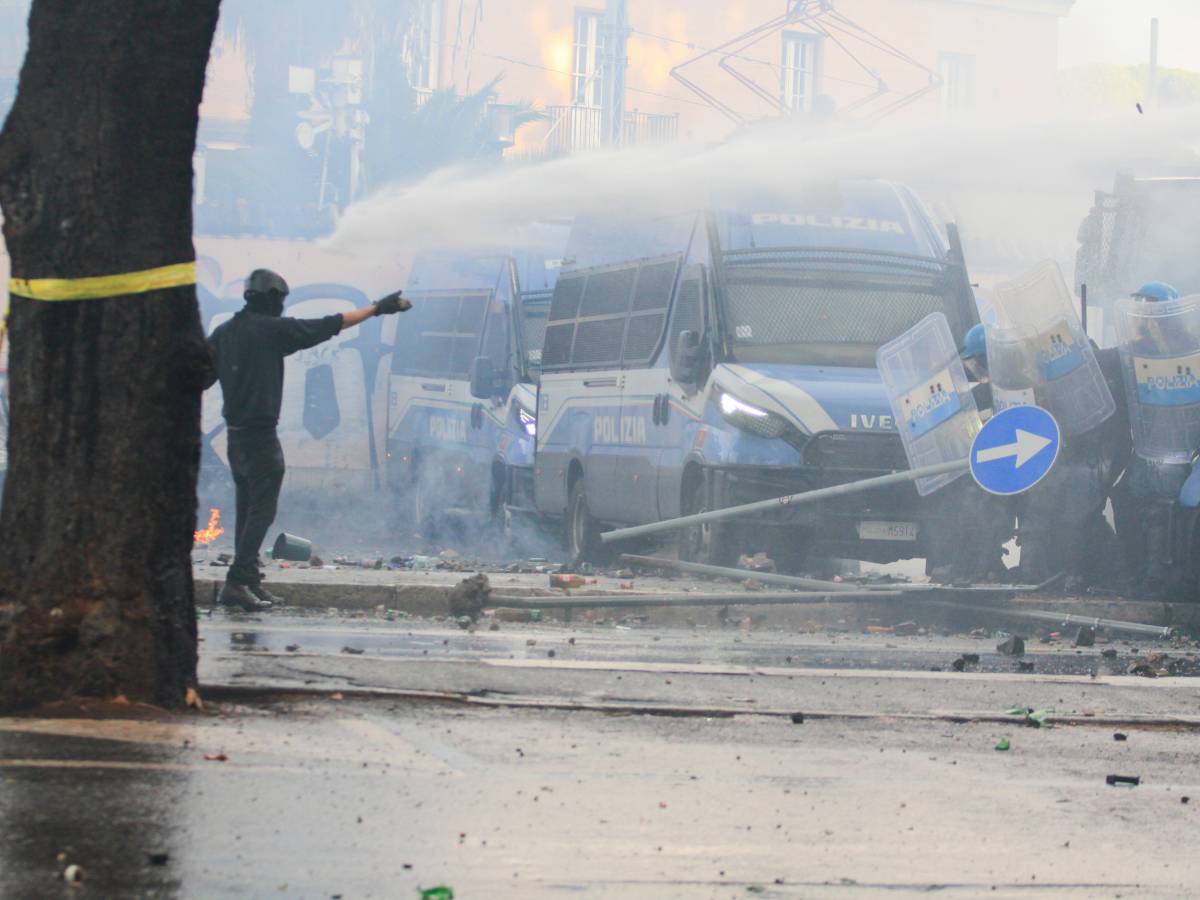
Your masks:
[{"label": "pale peach building facade with windows above the water spray", "polygon": [[[628,59],[624,143],[714,140],[763,119],[1051,113],[1074,0],[422,0],[431,88],[502,78],[546,120],[540,156],[605,143],[605,66]],[[622,37],[624,35],[624,37]]]}]

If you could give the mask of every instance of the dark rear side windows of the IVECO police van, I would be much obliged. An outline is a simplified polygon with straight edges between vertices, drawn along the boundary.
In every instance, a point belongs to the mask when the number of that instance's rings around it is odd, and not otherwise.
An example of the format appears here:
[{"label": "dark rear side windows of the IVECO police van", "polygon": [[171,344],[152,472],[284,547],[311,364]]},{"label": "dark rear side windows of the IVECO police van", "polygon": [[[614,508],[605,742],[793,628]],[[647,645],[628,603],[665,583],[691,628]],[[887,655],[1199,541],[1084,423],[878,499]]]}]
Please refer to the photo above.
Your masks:
[{"label": "dark rear side windows of the IVECO police van", "polygon": [[554,287],[542,368],[648,366],[662,343],[679,257],[562,275]]}]

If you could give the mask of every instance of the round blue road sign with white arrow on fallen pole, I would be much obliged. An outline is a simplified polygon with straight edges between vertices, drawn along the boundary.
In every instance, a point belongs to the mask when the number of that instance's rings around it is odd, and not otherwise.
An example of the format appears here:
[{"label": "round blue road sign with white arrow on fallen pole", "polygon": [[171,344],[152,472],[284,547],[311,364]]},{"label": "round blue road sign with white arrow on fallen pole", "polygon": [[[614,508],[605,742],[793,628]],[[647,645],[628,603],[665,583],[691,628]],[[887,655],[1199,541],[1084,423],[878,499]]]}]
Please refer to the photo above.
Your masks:
[{"label": "round blue road sign with white arrow on fallen pole", "polygon": [[1021,493],[1046,476],[1061,445],[1058,422],[1045,409],[1009,407],[976,434],[971,474],[989,493]]}]

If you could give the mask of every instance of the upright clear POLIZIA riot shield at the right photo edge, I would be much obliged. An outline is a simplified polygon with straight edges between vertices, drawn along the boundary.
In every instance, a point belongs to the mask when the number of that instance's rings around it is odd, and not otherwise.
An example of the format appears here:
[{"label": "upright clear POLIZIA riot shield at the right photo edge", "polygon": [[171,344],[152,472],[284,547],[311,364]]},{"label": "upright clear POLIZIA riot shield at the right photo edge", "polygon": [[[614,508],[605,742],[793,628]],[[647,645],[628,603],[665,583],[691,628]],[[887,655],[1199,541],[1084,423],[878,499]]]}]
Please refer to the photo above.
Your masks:
[{"label": "upright clear POLIZIA riot shield at the right photo edge", "polygon": [[1200,450],[1200,295],[1120,300],[1117,337],[1138,455],[1189,462]]}]

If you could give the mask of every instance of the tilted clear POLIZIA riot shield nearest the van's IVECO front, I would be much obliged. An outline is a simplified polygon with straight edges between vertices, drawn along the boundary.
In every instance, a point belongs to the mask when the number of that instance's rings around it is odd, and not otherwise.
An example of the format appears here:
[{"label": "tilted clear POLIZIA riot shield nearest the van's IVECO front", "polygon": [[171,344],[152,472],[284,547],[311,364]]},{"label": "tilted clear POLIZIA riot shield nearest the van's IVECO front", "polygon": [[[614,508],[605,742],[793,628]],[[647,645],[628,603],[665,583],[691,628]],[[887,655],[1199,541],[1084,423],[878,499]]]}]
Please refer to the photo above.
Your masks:
[{"label": "tilted clear POLIZIA riot shield nearest the van's IVECO front", "polygon": [[[966,460],[982,421],[946,316],[926,316],[875,354],[908,466]],[[917,481],[925,497],[959,478],[950,472]]]}]

